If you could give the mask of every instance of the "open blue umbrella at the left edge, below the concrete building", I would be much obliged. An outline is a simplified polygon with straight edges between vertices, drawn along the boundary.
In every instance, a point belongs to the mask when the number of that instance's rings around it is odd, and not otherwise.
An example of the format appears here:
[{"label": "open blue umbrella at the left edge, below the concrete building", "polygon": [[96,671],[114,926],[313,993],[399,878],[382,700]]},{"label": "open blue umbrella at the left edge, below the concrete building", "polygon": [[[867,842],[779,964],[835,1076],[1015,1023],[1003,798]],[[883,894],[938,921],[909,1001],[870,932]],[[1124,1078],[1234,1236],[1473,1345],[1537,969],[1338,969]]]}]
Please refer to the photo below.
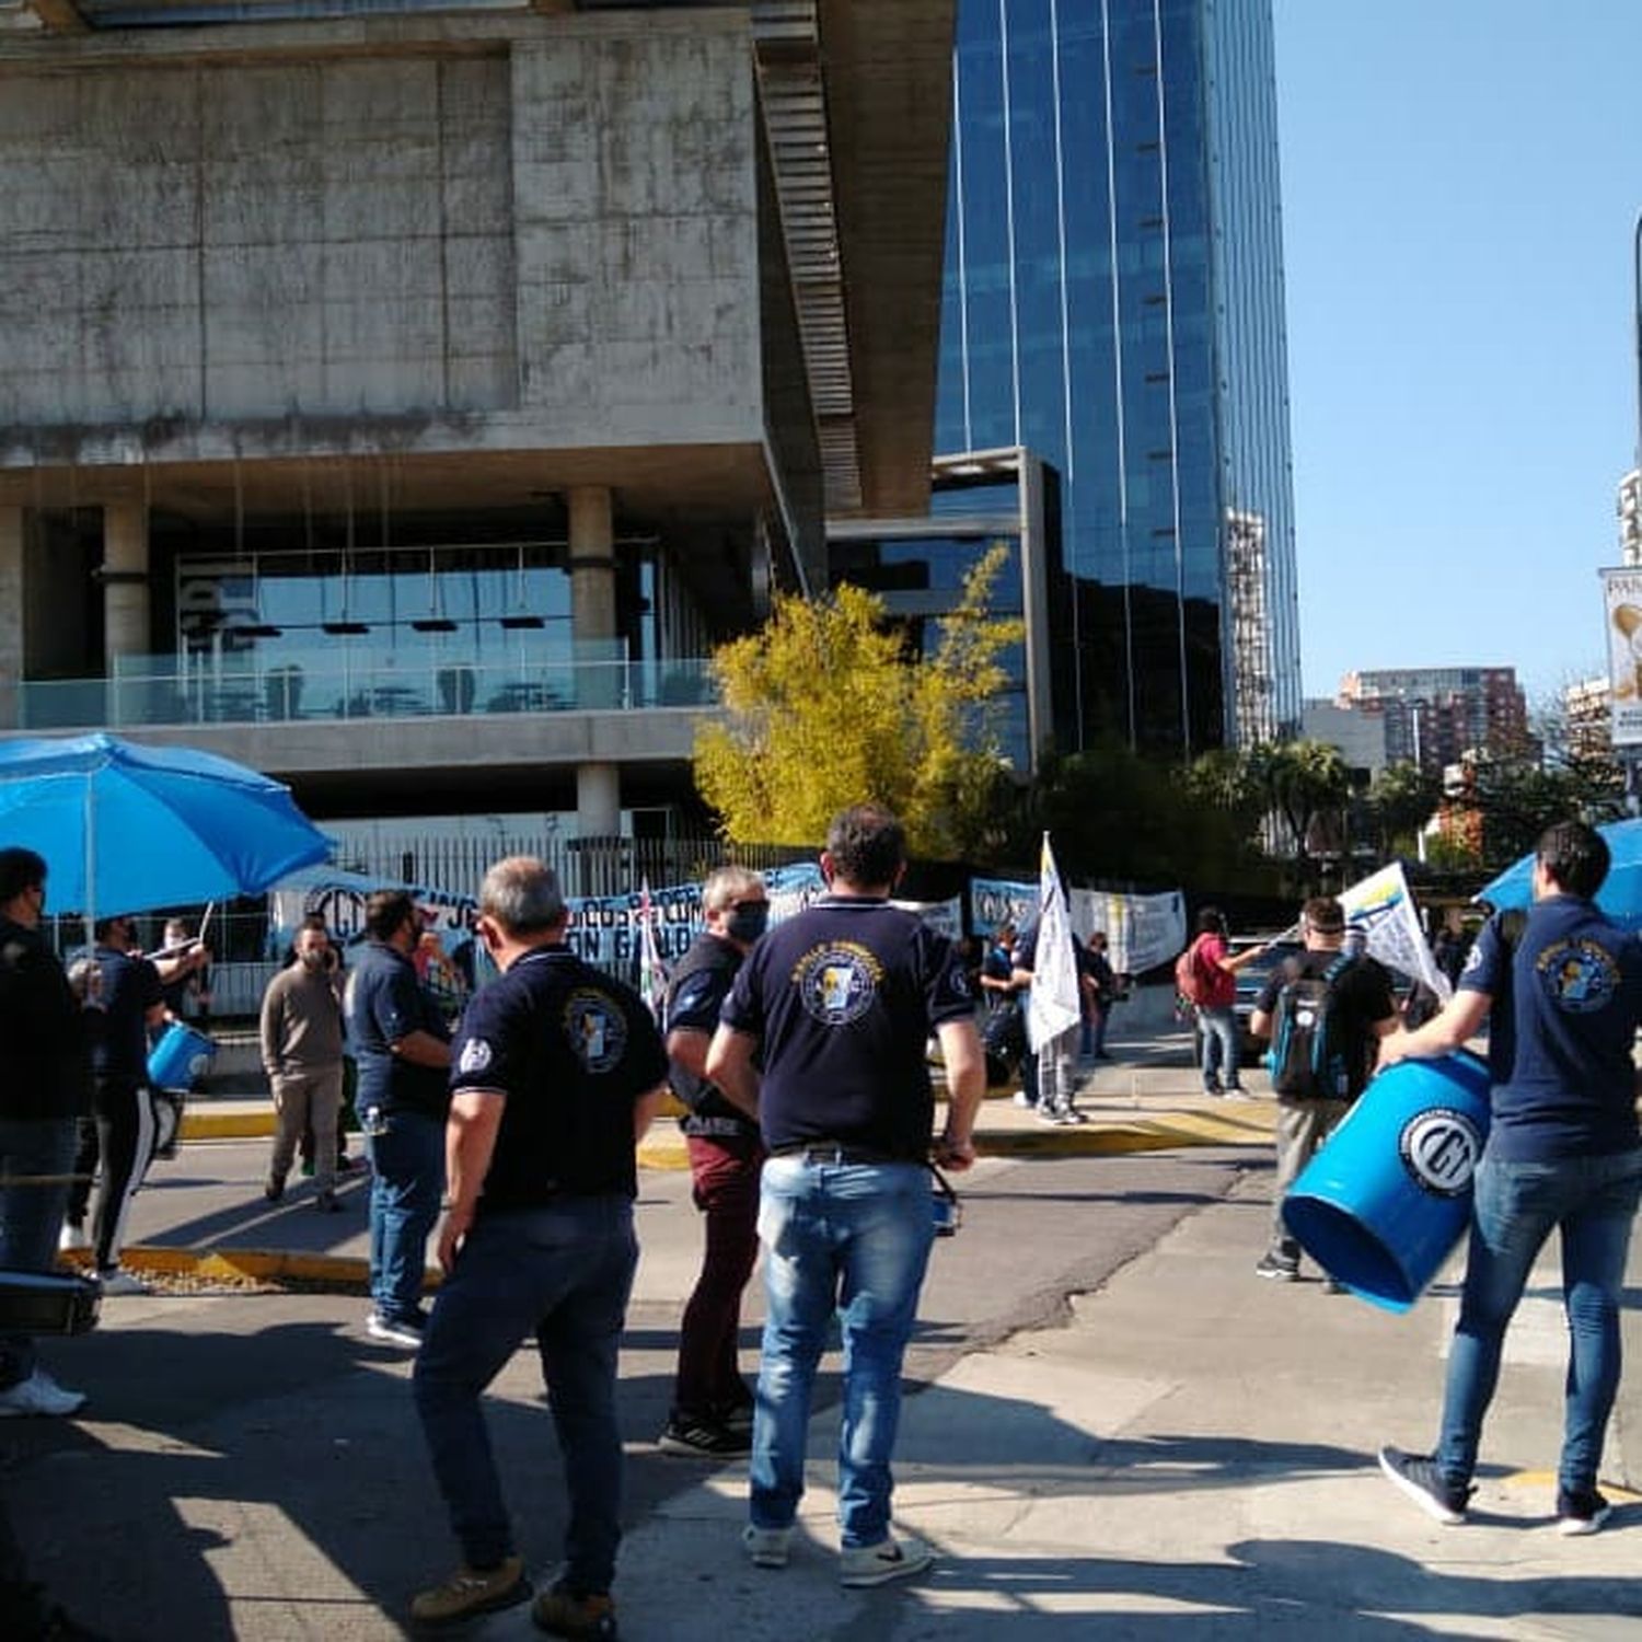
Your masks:
[{"label": "open blue umbrella at the left edge, below the concrete building", "polygon": [[0,742],[0,847],[18,844],[44,855],[53,906],[89,918],[255,895],[330,854],[279,782],[100,732]]}]

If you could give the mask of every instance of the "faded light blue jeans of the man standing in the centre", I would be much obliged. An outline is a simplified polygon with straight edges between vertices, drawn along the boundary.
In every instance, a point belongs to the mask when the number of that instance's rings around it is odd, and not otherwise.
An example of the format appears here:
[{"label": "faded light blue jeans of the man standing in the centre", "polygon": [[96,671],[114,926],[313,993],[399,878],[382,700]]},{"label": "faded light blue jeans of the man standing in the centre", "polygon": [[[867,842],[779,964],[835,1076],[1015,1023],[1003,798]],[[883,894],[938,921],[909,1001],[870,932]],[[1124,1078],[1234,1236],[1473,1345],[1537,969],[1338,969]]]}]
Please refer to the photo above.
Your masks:
[{"label": "faded light blue jeans of the man standing in the centre", "polygon": [[901,1358],[934,1223],[916,1163],[770,1158],[759,1205],[767,1314],[752,1424],[752,1522],[788,1527],[805,1491],[810,1394],[834,1310],[844,1333],[837,1516],[846,1548],[890,1532]]}]

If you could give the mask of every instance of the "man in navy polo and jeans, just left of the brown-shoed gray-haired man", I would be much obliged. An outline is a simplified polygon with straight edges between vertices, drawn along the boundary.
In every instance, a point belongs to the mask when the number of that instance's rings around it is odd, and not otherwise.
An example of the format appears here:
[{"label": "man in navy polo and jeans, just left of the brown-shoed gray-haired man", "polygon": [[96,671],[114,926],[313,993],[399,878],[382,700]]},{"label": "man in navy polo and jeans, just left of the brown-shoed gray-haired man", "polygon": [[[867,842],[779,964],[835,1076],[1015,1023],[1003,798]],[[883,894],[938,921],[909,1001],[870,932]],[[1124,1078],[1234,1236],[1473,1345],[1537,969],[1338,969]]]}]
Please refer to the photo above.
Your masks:
[{"label": "man in navy polo and jeans, just left of the brown-shoed gray-haired man", "polygon": [[355,1107],[371,1158],[371,1315],[365,1332],[414,1351],[422,1343],[427,1238],[445,1186],[450,1030],[410,954],[422,915],[406,890],[365,903],[365,933],[343,1011],[360,1080]]}]

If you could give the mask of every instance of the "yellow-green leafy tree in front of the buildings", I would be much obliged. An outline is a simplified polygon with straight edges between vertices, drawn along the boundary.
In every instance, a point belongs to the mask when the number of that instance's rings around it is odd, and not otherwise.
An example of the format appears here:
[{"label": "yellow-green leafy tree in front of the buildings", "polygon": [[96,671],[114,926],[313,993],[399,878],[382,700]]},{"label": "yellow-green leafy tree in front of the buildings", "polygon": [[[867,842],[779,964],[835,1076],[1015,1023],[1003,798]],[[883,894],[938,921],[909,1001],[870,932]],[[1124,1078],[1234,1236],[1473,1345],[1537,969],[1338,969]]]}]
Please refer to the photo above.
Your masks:
[{"label": "yellow-green leafy tree in front of the buildings", "polygon": [[713,655],[724,714],[696,736],[701,796],[737,842],[813,844],[846,805],[875,801],[923,855],[969,852],[1008,780],[993,724],[1002,652],[1021,624],[990,614],[1007,550],[988,550],[908,654],[883,601],[855,586],[778,596],[764,627]]}]

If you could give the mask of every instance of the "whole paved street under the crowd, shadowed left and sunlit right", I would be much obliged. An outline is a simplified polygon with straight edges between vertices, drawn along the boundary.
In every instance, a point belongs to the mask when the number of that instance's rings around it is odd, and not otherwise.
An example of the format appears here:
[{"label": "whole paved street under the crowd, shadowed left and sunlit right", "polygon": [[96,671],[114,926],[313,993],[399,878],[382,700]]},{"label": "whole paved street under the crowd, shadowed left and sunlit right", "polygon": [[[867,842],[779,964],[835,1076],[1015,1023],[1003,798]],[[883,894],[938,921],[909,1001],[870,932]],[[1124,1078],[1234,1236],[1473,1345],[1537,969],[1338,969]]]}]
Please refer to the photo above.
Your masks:
[{"label": "whole paved street under the crowd, shadowed left and sunlit right", "polygon": [[[900,1445],[900,1516],[943,1562],[900,1589],[837,1586],[831,1381],[785,1573],[741,1560],[742,1465],[655,1450],[699,1228],[688,1177],[645,1171],[622,1365],[624,1635],[964,1642],[1082,1634],[1067,1631],[1077,1619],[1115,1637],[1635,1634],[1642,1502],[1619,1496],[1611,1529],[1589,1540],[1548,1527],[1553,1263],[1512,1337],[1476,1520],[1438,1529],[1371,1455],[1432,1435],[1452,1274],[1401,1319],[1317,1282],[1256,1281],[1269,1107],[1197,1100],[1177,1048],[1133,1046],[1103,1067],[1087,1100],[1097,1123],[1082,1131],[1039,1131],[988,1103],[1002,1156],[974,1171],[965,1223],[936,1250]],[[1156,1126],[1189,1138],[1192,1123],[1212,1143],[1128,1149],[1156,1141]],[[361,1187],[351,1218],[315,1215],[300,1194],[269,1210],[264,1158],[259,1141],[190,1143],[156,1167],[140,1238],[363,1251]],[[1632,1273],[1626,1323],[1642,1360],[1642,1259]],[[757,1310],[754,1294],[749,1360]],[[166,1292],[108,1300],[97,1333],[48,1346],[92,1402],[74,1424],[0,1429],[7,1501],[36,1571],[131,1642],[401,1635],[409,1593],[448,1571],[453,1550],[407,1363],[363,1337],[363,1312],[346,1292]],[[550,1575],[562,1488],[529,1355],[491,1412],[522,1548]],[[1604,1475],[1642,1483],[1635,1376]],[[532,1631],[517,1609],[470,1634]]]}]

